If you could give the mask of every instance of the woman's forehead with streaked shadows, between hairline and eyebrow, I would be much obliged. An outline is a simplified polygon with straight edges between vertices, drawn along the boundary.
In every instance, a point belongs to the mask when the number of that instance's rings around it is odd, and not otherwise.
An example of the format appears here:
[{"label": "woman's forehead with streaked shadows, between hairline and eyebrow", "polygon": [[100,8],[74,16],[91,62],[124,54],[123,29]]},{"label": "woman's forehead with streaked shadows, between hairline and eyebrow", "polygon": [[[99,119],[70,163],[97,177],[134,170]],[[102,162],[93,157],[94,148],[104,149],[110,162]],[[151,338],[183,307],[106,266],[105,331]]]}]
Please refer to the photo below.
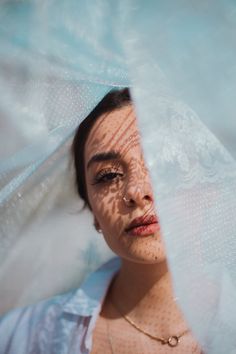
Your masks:
[{"label": "woman's forehead with streaked shadows, between hairline and eyebrow", "polygon": [[140,141],[133,105],[128,105],[99,117],[85,144],[85,157],[110,150],[122,151]]}]

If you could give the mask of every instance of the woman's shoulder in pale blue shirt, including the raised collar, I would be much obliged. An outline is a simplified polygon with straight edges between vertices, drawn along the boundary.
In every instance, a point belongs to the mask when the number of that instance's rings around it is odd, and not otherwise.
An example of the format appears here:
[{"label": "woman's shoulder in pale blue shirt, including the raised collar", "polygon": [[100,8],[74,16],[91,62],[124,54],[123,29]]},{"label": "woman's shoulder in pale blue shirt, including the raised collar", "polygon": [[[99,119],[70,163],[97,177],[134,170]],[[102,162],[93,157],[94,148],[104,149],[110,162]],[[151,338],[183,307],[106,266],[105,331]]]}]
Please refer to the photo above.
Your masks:
[{"label": "woman's shoulder in pale blue shirt, including the raised collar", "polygon": [[77,337],[87,335],[88,318],[96,317],[120,260],[113,258],[88,275],[80,288],[12,310],[0,317],[1,354],[68,352]]}]

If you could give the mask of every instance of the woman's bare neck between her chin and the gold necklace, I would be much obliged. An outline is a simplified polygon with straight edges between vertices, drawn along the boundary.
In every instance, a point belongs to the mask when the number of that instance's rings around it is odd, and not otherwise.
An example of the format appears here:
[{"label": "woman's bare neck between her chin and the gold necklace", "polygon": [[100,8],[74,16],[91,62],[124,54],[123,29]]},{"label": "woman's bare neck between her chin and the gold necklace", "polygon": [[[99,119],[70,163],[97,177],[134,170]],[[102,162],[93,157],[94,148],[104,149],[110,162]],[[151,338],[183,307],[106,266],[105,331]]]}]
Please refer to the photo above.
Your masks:
[{"label": "woman's bare neck between her chin and the gold necklace", "polygon": [[[162,318],[163,334],[172,333],[173,330],[175,333],[179,324],[183,323],[174,300],[166,261],[158,264],[138,264],[122,260],[121,269],[113,281],[109,297],[122,315],[130,316],[137,324],[146,323],[149,319],[152,327]],[[153,316],[154,313],[157,316]],[[168,315],[170,313],[171,316]]]}]

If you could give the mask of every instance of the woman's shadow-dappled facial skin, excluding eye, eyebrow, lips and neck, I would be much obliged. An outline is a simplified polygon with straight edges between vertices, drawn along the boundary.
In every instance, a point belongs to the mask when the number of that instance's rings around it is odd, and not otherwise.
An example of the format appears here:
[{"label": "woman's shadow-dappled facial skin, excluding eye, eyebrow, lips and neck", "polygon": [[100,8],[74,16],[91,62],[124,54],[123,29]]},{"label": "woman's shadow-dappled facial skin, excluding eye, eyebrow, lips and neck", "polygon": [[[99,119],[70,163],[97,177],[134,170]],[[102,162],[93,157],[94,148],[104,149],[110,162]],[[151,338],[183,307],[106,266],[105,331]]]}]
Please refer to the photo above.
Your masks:
[{"label": "woman's shadow-dappled facial skin, excluding eye, eyebrow, lips and neck", "polygon": [[[119,151],[122,159],[96,163],[86,173],[90,205],[104,238],[120,257],[150,263],[156,262],[157,257],[163,259],[164,248],[159,232],[151,235],[148,242],[145,238],[127,237],[124,232],[135,217],[155,214],[150,178],[131,106],[112,112],[95,123],[86,143],[85,161],[95,153],[111,150]],[[112,183],[91,185],[94,175],[107,168],[124,176]],[[143,200],[130,208],[125,205],[124,196]]]}]

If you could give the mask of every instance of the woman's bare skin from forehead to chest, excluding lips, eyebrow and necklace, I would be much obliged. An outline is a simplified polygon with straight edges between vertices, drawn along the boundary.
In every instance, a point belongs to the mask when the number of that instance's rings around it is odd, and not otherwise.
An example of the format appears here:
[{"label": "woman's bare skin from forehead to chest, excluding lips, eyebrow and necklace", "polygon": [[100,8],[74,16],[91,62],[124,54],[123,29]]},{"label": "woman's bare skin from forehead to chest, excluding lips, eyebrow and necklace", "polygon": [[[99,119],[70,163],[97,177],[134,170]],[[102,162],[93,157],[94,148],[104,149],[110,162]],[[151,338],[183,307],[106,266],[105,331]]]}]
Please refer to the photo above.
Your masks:
[{"label": "woman's bare skin from forehead to chest, excluding lips, eyebrow and necklace", "polygon": [[[95,224],[122,260],[96,322],[92,353],[199,354],[201,350],[190,331],[177,347],[170,348],[137,331],[121,315],[128,315],[142,329],[159,337],[178,335],[188,328],[173,300],[160,231],[146,237],[125,232],[134,218],[156,214],[132,105],[105,114],[95,122],[85,145],[85,165],[95,154],[114,150],[121,154],[121,159],[95,162],[85,175]],[[103,181],[97,183],[101,171]],[[104,179],[104,171],[110,173],[110,179]],[[127,206],[123,197],[131,199],[132,205]]]}]

